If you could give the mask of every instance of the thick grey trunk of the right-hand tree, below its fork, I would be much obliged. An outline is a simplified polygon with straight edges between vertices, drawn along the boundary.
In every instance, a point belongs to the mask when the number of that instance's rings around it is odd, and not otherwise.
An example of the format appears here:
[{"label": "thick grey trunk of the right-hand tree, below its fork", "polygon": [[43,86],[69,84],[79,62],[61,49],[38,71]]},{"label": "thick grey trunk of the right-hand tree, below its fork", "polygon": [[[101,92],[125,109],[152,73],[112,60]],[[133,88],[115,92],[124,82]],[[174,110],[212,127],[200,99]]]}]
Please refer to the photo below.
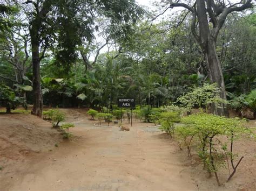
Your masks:
[{"label": "thick grey trunk of the right-hand tree, below its fork", "polygon": [[[226,90],[223,72],[221,70],[220,62],[215,49],[216,48],[214,40],[210,37],[210,39],[208,39],[207,41],[206,47],[204,48],[204,56],[208,66],[208,75],[210,77],[211,83],[217,83],[219,88],[221,89],[220,97],[223,98],[223,100],[226,100]],[[212,113],[215,115],[229,117],[226,104],[222,104],[219,106],[212,104],[211,110]]]}]

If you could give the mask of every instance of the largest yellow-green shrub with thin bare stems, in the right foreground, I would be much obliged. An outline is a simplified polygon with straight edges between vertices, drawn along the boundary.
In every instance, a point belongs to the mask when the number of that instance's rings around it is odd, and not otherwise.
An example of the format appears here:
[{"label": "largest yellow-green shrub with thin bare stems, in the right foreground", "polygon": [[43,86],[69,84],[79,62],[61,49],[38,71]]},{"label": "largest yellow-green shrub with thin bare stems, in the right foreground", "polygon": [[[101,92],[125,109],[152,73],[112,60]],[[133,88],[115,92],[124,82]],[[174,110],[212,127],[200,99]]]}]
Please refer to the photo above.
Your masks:
[{"label": "largest yellow-green shrub with thin bare stems, in the right foreground", "polygon": [[[232,164],[233,172],[228,177],[227,181],[232,178],[237,171],[237,167],[240,164],[241,157],[237,165],[234,165],[234,153],[233,142],[235,138],[238,138],[241,133],[250,132],[244,128],[243,121],[239,118],[225,118],[212,114],[193,114],[182,119],[182,122],[188,124],[184,129],[180,129],[180,133],[184,132],[184,137],[197,136],[199,140],[198,154],[201,160],[203,160],[204,166],[207,167],[208,172],[214,173],[215,178],[220,185],[218,178],[218,169],[223,167],[225,160],[228,157]],[[227,152],[227,143],[221,143],[217,136],[227,136],[230,141],[230,151]],[[221,149],[220,149],[221,147]],[[230,167],[228,166],[228,170]]]}]

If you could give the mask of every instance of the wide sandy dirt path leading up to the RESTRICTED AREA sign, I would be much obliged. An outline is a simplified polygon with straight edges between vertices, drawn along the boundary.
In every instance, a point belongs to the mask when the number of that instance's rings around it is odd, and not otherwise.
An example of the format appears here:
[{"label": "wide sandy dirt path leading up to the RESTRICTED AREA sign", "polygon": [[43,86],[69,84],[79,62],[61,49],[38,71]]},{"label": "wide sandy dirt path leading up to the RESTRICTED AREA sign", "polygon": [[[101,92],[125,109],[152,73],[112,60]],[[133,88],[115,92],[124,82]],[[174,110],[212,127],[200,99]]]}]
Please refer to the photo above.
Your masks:
[{"label": "wide sandy dirt path leading up to the RESTRICTED AREA sign", "polygon": [[157,129],[80,127],[73,133],[80,137],[7,174],[5,190],[197,189]]}]

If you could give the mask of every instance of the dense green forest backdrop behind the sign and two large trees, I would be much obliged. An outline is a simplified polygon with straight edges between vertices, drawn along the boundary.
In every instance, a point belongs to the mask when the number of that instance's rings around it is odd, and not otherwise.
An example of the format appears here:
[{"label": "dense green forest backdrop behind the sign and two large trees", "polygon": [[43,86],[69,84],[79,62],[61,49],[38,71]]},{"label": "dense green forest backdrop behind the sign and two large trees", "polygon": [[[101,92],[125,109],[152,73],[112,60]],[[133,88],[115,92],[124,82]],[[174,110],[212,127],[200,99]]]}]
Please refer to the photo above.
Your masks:
[{"label": "dense green forest backdrop behind the sign and two large trees", "polygon": [[[78,17],[75,3],[55,4],[39,29],[44,105],[111,108],[117,97],[127,96],[134,97],[137,105],[159,107],[210,83],[204,54],[190,30],[191,16],[184,17],[186,11],[152,22],[153,13],[133,3],[120,8],[126,15],[135,11],[127,18],[114,15],[118,6],[111,12],[97,4],[93,10],[84,5]],[[0,17],[0,82],[32,104],[35,47],[31,30],[41,5],[35,5],[36,11],[31,11],[29,2],[6,5],[1,5]],[[241,108],[239,104],[246,105],[245,95],[256,88],[254,9],[228,15],[216,51],[227,99],[235,101],[231,102],[235,109]]]}]

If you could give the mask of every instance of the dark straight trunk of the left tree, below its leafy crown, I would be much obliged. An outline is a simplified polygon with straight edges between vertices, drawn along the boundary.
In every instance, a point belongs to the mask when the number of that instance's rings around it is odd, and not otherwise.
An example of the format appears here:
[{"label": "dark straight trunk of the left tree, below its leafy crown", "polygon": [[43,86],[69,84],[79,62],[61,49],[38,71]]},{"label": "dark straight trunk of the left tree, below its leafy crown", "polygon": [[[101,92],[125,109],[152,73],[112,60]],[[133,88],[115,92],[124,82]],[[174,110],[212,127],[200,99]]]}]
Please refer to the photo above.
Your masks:
[{"label": "dark straight trunk of the left tree, below its leafy crown", "polygon": [[33,109],[32,114],[42,117],[43,112],[43,96],[41,91],[41,76],[40,76],[40,59],[39,59],[39,44],[33,42],[31,38],[32,47],[32,68],[33,68]]}]

